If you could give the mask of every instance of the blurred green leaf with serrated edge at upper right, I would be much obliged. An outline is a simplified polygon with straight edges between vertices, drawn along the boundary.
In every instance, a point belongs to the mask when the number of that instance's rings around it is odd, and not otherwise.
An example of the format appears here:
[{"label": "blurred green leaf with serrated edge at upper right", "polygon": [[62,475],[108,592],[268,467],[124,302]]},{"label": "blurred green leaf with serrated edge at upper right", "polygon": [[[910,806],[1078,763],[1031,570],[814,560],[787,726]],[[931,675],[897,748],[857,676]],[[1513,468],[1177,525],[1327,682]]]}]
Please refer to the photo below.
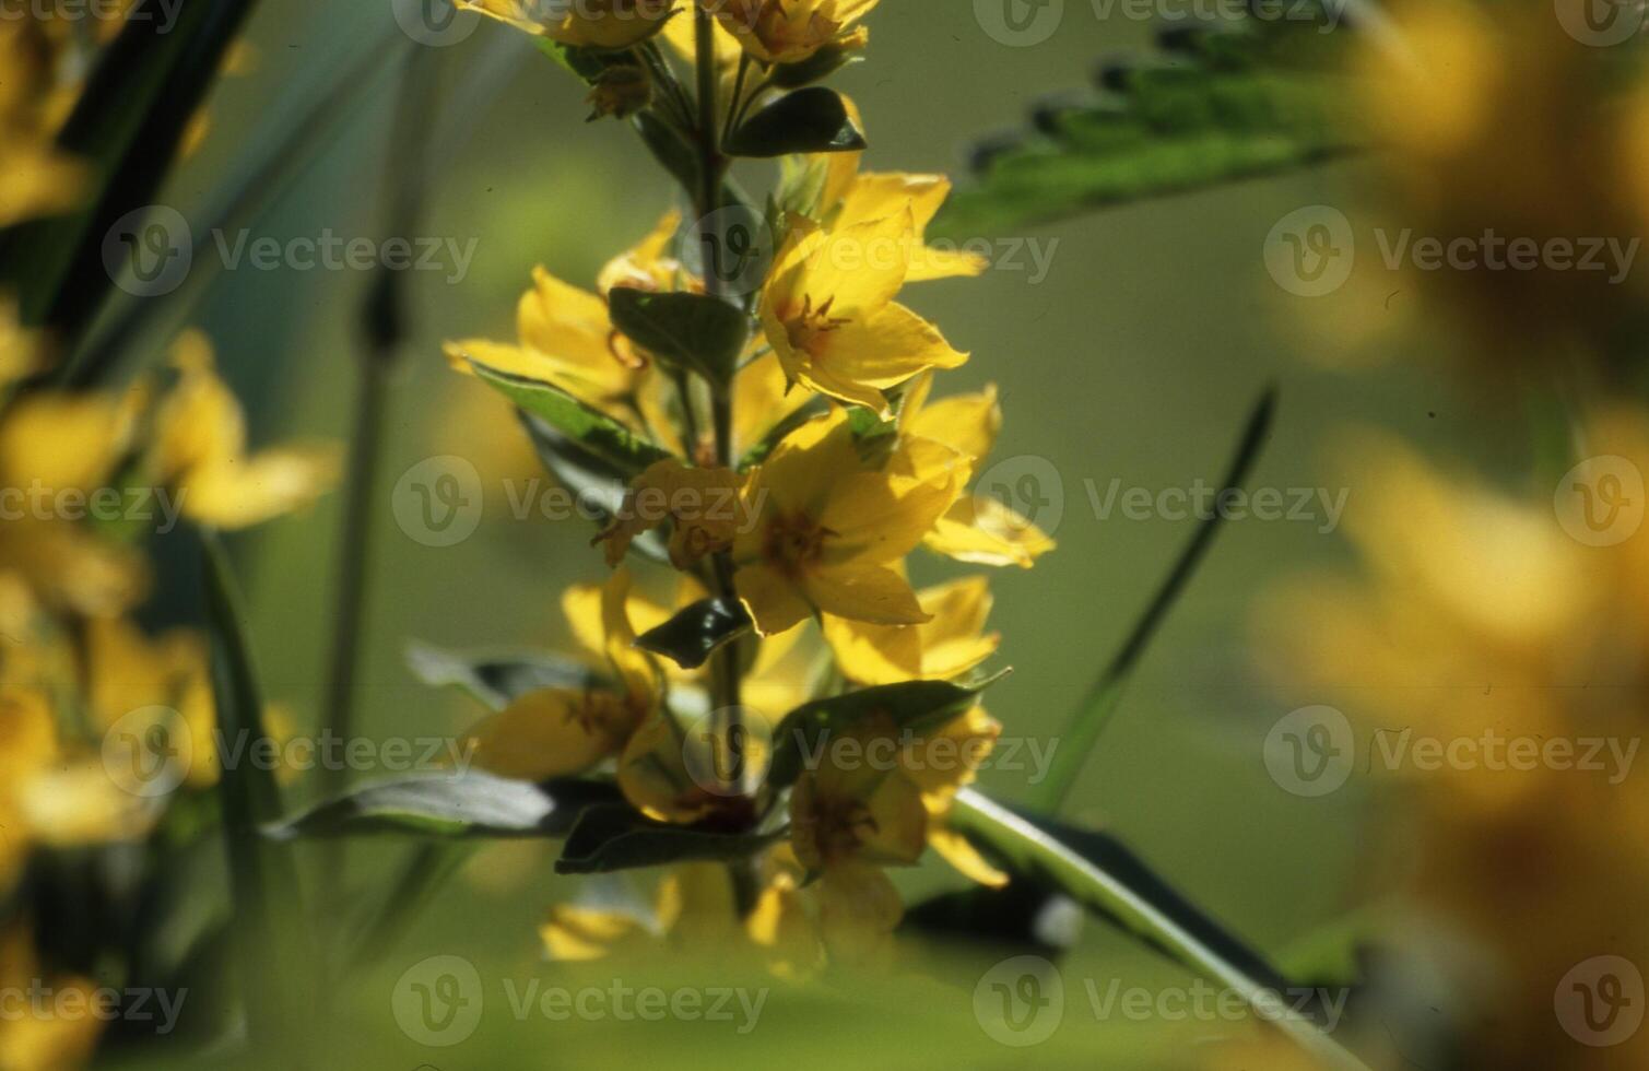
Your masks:
[{"label": "blurred green leaf with serrated edge at upper right", "polygon": [[1111,63],[1097,91],[1041,104],[1034,129],[975,153],[978,182],[933,221],[947,239],[999,234],[1141,198],[1321,163],[1367,134],[1334,73],[1344,33],[1308,20],[1210,18]]}]

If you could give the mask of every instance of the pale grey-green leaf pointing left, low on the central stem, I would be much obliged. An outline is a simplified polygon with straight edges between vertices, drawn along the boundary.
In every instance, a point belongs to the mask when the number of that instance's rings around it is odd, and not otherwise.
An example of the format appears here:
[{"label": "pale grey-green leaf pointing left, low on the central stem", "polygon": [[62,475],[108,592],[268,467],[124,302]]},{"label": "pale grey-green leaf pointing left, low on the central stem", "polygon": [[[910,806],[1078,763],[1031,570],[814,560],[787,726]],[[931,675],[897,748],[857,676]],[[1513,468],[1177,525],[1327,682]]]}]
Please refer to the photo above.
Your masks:
[{"label": "pale grey-green leaf pointing left, low on the central stem", "polygon": [[566,837],[585,807],[618,790],[597,781],[511,781],[482,771],[424,774],[353,789],[264,828],[270,840],[333,837]]}]

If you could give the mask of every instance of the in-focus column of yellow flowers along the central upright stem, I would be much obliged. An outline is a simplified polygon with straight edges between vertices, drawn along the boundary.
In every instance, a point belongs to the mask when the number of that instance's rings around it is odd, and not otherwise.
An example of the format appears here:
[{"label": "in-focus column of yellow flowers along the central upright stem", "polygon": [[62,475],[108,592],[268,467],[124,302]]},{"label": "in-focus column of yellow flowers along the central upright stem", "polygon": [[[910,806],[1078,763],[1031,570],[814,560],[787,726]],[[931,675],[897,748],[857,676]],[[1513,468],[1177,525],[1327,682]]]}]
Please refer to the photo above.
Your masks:
[{"label": "in-focus column of yellow flowers along the central upright stem", "polygon": [[[528,690],[475,726],[478,766],[531,781],[610,772],[648,822],[750,845],[732,866],[673,871],[648,926],[557,906],[546,944],[592,957],[673,931],[704,914],[681,909],[696,889],[742,914],[775,967],[867,954],[902,914],[886,868],[933,847],[980,881],[1004,880],[945,822],[999,733],[968,686],[999,642],[986,632],[988,581],[917,589],[907,573],[918,548],[986,566],[1031,566],[1052,548],[973,493],[1001,424],[996,391],[935,398],[935,373],[966,353],[900,300],[907,284],[984,266],[925,244],[943,177],[861,170],[857,109],[818,86],[785,94],[833,69],[821,53],[864,45],[857,21],[872,2],[704,3],[656,20],[645,3],[554,18],[472,7],[571,46],[569,66],[597,92],[604,71],[646,71],[645,117],[711,168],[684,180],[699,223],[666,213],[594,290],[541,267],[514,342],[447,345],[453,368],[521,406],[557,475],[579,469],[557,459],[582,460],[617,485],[597,536],[612,579],[564,599],[590,675]],[[716,96],[688,99],[653,30]],[[747,116],[759,125],[763,107],[801,97],[824,101],[816,114],[834,116],[841,135],[742,150]],[[737,155],[785,157],[770,211],[742,206],[726,182]],[[759,284],[740,292],[702,267],[722,238],[714,218],[729,215],[772,234]],[[645,561],[676,574],[668,602],[641,594],[656,587]],[[702,620],[721,624],[698,657],[656,639]],[[910,682],[955,686],[947,705],[914,710]],[[820,748],[795,759],[800,734]],[[961,757],[918,761],[942,738]],[[706,776],[729,741],[744,776]],[[866,757],[879,751],[889,761]]]}]

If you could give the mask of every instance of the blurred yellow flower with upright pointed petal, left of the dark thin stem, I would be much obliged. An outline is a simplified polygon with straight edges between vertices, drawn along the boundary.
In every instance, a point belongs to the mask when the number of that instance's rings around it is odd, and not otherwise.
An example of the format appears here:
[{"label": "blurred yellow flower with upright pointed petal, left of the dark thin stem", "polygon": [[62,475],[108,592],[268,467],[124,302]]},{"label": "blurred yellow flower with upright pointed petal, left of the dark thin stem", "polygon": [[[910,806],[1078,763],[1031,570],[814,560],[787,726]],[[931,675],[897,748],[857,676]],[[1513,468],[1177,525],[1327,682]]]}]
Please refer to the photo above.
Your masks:
[{"label": "blurred yellow flower with upright pointed petal, left of the dark thin stem", "polygon": [[155,413],[147,475],[178,488],[185,517],[216,528],[246,528],[313,502],[336,474],[336,451],[280,447],[247,454],[246,416],[213,370],[200,332],[178,338],[178,383]]}]

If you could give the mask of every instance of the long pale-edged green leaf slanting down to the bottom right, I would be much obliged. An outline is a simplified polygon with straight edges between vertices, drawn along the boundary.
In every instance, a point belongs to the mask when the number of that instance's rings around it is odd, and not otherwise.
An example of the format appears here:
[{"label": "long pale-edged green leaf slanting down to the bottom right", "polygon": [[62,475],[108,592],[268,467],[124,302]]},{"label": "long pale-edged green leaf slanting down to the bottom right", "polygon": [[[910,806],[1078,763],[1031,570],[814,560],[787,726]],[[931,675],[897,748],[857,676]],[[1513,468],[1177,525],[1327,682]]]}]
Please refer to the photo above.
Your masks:
[{"label": "long pale-edged green leaf slanting down to the bottom right", "polygon": [[[1047,828],[973,789],[956,794],[950,823],[1014,876],[1062,889],[1083,908],[1164,952],[1174,962],[1240,993],[1261,1020],[1286,1033],[1324,1066],[1367,1071],[1360,1059],[1341,1048],[1316,1023],[1288,1007],[1276,985],[1281,979],[1273,970],[1255,970],[1253,964],[1224,954],[1229,952],[1230,942],[1210,939],[1222,931],[1217,927],[1210,931],[1207,918],[1177,894],[1164,896],[1166,886],[1120,878]],[[1237,944],[1240,947],[1240,942]]]}]

